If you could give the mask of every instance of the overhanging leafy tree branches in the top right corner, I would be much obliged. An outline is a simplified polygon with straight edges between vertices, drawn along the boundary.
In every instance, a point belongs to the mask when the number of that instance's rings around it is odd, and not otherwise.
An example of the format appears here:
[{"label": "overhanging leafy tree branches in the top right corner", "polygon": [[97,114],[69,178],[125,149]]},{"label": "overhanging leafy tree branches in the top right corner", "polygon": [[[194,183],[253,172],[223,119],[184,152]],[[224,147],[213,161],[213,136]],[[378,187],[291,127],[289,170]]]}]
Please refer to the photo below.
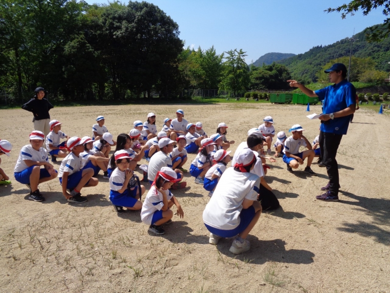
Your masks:
[{"label": "overhanging leafy tree branches in the top right corner", "polygon": [[[341,18],[345,19],[347,15],[355,15],[356,11],[363,10],[363,15],[368,15],[372,9],[382,8],[384,16],[390,15],[390,0],[352,0],[348,4],[343,4],[337,8],[328,8],[324,11],[341,12]],[[390,18],[383,21],[383,28],[374,25],[366,29],[367,40],[370,42],[378,42],[390,35]]]}]

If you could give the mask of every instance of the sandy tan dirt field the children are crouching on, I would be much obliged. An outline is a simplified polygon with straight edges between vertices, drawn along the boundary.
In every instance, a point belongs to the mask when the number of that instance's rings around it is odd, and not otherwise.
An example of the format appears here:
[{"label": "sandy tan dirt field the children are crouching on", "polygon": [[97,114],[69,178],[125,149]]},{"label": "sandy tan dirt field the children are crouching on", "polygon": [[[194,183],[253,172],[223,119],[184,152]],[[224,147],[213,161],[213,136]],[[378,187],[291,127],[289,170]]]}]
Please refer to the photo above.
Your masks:
[{"label": "sandy tan dirt field the children are crouching on", "polygon": [[[50,114],[66,134],[79,137],[90,136],[96,117],[104,115],[116,137],[151,111],[159,130],[177,108],[189,122],[201,121],[209,135],[225,122],[233,150],[267,115],[276,132],[300,124],[309,141],[319,132],[319,121],[298,105],[90,106]],[[319,105],[311,110],[321,112]],[[68,204],[58,179],[39,186],[45,202],[27,200],[13,170],[33,130],[32,114],[0,110],[0,117],[0,138],[13,145],[11,157],[1,156],[12,185],[0,186],[0,292],[390,292],[389,115],[355,114],[337,155],[340,202],[315,200],[327,184],[325,168],[313,164],[318,176],[310,177],[303,167],[287,172],[281,158],[270,164],[266,180],[281,208],[261,215],[248,237],[251,250],[239,256],[229,252],[231,239],[208,244],[202,222],[208,192],[189,173],[187,188],[173,191],[184,219],[174,216],[161,237],[148,233],[139,212],[114,211],[101,171],[98,186],[82,190],[90,194],[85,204]]]}]

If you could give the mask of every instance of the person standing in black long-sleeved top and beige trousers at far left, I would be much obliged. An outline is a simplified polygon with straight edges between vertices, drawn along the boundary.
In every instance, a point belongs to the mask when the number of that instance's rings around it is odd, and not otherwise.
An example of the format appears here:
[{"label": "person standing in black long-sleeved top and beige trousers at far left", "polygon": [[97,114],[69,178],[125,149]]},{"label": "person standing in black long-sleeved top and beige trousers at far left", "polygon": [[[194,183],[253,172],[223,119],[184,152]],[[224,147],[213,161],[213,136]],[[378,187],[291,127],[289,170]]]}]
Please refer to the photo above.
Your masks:
[{"label": "person standing in black long-sleeved top and beige trousers at far left", "polygon": [[46,91],[43,87],[35,89],[34,98],[22,105],[21,108],[33,112],[34,130],[42,131],[46,135],[50,131],[50,114],[49,110],[54,108],[52,104],[45,99]]}]

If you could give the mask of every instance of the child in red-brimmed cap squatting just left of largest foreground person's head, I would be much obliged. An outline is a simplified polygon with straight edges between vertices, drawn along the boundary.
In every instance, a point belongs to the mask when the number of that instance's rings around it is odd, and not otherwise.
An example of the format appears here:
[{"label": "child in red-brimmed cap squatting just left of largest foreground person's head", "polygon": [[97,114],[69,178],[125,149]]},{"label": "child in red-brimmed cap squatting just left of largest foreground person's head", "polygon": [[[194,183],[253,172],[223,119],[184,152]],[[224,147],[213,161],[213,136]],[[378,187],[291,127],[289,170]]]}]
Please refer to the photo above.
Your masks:
[{"label": "child in red-brimmed cap squatting just left of largest foreground person's head", "polygon": [[214,165],[210,167],[204,176],[203,188],[209,192],[209,196],[213,196],[214,189],[222,175],[226,170],[226,166],[230,162],[231,158],[229,156],[231,150],[226,151],[224,149],[217,150],[214,154]]}]

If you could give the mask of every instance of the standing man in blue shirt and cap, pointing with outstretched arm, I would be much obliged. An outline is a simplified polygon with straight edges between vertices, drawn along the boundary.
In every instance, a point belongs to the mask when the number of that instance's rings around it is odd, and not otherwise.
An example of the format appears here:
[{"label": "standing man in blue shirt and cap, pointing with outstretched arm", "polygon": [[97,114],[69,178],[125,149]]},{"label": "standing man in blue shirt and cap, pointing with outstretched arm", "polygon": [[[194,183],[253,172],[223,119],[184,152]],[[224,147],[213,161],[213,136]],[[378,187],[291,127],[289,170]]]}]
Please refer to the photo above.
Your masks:
[{"label": "standing man in blue shirt and cap, pointing with outstretched arm", "polygon": [[303,84],[289,80],[291,87],[298,87],[309,97],[318,97],[323,101],[319,145],[324,165],[329,176],[327,186],[321,188],[326,191],[316,196],[316,199],[323,201],[338,201],[339,174],[336,161],[336,154],[341,138],[347,134],[351,114],[355,112],[356,89],[346,80],[347,67],[343,63],[335,63],[325,70],[329,73],[329,80],[333,85],[313,91]]}]

